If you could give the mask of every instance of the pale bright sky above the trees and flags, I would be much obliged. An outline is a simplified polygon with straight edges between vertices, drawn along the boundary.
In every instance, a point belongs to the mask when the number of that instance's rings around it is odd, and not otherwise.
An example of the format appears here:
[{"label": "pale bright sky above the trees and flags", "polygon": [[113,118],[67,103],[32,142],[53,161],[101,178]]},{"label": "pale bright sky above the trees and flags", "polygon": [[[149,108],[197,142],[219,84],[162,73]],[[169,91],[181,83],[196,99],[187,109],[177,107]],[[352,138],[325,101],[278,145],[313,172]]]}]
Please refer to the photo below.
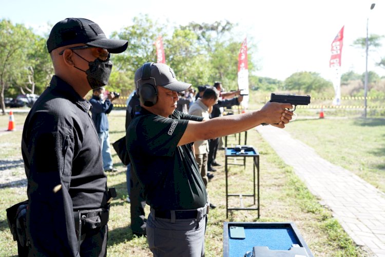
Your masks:
[{"label": "pale bright sky above the trees and flags", "polygon": [[[159,23],[187,25],[189,22],[213,23],[227,19],[237,23],[239,42],[257,46],[253,60],[259,70],[254,74],[285,80],[295,72],[312,71],[331,80],[331,44],[344,26],[341,72],[365,72],[365,51],[352,46],[359,37],[385,35],[385,1],[367,0],[94,0],[41,1],[0,0],[0,18],[10,19],[47,32],[67,17],[83,17],[99,24],[107,36],[132,25],[132,18],[143,14]],[[370,10],[372,3],[376,6]],[[368,71],[385,75],[375,67],[384,46],[370,50]],[[167,53],[165,53],[167,55]],[[251,56],[249,56],[251,58]]]}]

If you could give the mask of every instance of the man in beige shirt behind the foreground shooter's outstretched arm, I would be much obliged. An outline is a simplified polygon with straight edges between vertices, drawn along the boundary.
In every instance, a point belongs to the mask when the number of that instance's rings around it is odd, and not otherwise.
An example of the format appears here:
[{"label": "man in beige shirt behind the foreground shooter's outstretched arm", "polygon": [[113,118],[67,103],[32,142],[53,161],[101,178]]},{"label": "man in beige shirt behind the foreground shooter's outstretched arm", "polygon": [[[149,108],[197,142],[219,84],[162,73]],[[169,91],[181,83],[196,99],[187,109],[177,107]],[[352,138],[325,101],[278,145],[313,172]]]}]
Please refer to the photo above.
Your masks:
[{"label": "man in beige shirt behind the foreground shooter's outstretched arm", "polygon": [[[191,105],[190,109],[188,110],[188,114],[203,117],[204,121],[209,120],[209,113],[211,112],[213,105],[217,103],[218,97],[219,93],[216,88],[206,88],[202,98],[198,98],[198,100]],[[195,159],[197,160],[204,186],[207,188],[209,181],[207,174],[208,141],[202,140],[194,142],[194,150]],[[215,209],[216,206],[210,202],[210,208]]]}]

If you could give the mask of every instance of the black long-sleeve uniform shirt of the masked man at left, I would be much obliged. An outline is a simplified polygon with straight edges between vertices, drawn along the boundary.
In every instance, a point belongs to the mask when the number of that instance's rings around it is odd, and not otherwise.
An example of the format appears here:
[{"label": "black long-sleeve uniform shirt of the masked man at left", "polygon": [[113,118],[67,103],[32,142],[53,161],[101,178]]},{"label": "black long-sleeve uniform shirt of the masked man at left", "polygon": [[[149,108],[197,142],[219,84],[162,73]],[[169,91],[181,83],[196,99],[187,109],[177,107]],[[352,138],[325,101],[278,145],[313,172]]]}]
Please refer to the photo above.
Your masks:
[{"label": "black long-sleeve uniform shirt of the masked man at left", "polygon": [[57,76],[23,129],[32,254],[79,256],[73,211],[106,206],[107,177],[91,105]]}]

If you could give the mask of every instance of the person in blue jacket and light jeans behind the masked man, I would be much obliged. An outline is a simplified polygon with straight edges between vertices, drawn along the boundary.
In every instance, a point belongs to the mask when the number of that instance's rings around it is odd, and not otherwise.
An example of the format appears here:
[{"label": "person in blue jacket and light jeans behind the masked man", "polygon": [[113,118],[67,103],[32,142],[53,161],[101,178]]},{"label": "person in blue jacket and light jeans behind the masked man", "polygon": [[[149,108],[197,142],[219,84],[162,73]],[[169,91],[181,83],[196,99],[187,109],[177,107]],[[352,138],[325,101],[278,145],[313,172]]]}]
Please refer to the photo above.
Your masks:
[{"label": "person in blue jacket and light jeans behind the masked man", "polygon": [[112,101],[118,97],[110,92],[105,98],[106,89],[104,87],[95,88],[92,92],[92,97],[89,102],[92,105],[92,121],[97,129],[99,142],[102,147],[103,169],[106,172],[115,172],[118,170],[113,167],[112,162],[107,114],[113,109]]}]

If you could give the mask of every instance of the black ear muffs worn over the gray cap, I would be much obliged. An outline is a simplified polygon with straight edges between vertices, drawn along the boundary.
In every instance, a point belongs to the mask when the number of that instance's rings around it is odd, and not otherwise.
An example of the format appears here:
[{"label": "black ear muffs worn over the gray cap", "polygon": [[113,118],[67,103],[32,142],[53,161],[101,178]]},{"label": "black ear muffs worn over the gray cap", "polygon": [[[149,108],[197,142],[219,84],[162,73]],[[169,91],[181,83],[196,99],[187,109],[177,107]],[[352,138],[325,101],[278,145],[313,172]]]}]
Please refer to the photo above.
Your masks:
[{"label": "black ear muffs worn over the gray cap", "polygon": [[[153,63],[143,64],[142,76],[141,76],[141,79],[143,81],[150,79],[150,77],[151,77],[151,65],[152,64]],[[142,86],[140,86],[138,91],[139,91],[138,92],[139,100],[144,106],[151,107],[157,103],[158,91],[157,91],[156,85],[152,85],[148,82],[148,83],[145,83]]]}]

